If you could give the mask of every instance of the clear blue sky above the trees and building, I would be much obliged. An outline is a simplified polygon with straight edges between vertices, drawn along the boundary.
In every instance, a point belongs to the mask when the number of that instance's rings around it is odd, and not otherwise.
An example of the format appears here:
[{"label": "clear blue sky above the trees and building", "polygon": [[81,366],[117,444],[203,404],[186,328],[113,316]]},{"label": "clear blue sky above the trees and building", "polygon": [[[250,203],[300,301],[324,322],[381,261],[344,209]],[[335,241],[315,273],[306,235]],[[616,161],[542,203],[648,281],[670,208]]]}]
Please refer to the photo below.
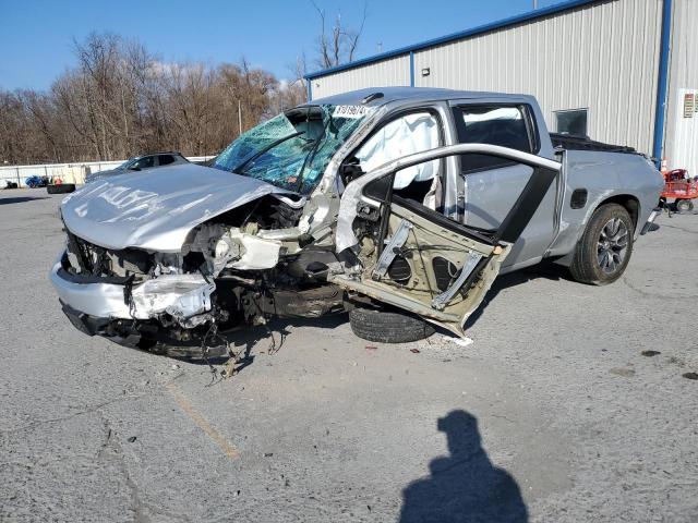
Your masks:
[{"label": "clear blue sky above the trees and building", "polygon": [[[316,0],[327,20],[361,22],[361,0]],[[547,7],[561,0],[539,0]],[[368,0],[356,58],[530,11],[533,0]],[[303,53],[320,69],[320,19],[311,0],[0,0],[0,88],[47,89],[74,66],[73,41],[110,32],[145,44],[163,62],[239,62],[292,77]]]}]

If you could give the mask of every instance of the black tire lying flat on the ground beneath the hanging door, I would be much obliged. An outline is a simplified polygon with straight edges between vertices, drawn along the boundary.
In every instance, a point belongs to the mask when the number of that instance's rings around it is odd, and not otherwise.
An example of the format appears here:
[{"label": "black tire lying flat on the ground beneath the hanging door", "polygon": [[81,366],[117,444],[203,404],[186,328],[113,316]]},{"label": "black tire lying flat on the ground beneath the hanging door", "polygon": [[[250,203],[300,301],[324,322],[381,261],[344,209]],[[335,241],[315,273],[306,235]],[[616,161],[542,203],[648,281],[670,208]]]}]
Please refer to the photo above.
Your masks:
[{"label": "black tire lying flat on the ground beneath the hanging door", "polygon": [[352,308],[349,324],[359,338],[380,343],[407,343],[434,333],[434,328],[421,318],[385,309]]}]

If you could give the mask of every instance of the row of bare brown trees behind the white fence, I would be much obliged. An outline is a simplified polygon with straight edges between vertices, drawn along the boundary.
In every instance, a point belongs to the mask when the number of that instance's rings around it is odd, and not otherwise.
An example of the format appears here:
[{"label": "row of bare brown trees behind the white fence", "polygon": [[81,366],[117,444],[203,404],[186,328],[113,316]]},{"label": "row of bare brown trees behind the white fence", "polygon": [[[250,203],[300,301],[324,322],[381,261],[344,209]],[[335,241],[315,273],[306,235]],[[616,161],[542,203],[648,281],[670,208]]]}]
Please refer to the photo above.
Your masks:
[{"label": "row of bare brown trees behind the white fence", "polygon": [[122,159],[178,149],[221,150],[240,132],[305,99],[296,78],[239,63],[166,63],[137,41],[92,34],[77,64],[46,93],[0,90],[0,163]]}]

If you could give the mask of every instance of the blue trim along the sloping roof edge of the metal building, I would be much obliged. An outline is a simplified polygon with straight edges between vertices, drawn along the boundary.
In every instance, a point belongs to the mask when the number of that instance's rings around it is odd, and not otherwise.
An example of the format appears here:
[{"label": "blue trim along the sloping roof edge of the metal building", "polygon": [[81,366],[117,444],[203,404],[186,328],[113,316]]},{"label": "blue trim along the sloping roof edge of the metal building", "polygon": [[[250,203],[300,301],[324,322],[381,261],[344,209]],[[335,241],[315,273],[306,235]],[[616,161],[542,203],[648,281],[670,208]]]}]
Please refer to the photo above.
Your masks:
[{"label": "blue trim along the sloping roof edge of the metal building", "polygon": [[607,0],[569,0],[567,2],[557,3],[554,5],[550,5],[547,8],[537,9],[535,11],[529,11],[524,14],[518,14],[516,16],[510,16],[508,19],[500,20],[496,22],[491,22],[489,24],[479,25],[471,29],[460,31],[458,33],[452,33],[450,35],[442,36],[438,38],[432,38],[431,40],[420,41],[418,44],[413,44],[411,46],[400,47],[393,51],[382,52],[380,54],[374,54],[373,57],[362,58],[361,60],[356,60],[353,62],[345,63],[341,65],[337,65],[335,68],[324,69],[322,71],[315,71],[314,73],[308,73],[304,78],[313,80],[320,76],[326,76],[327,74],[338,73],[340,71],[347,71],[350,69],[354,69],[361,65],[366,65],[369,63],[380,62],[382,60],[388,58],[395,58],[400,56],[407,56],[410,52],[420,51],[422,49],[426,49],[430,47],[438,46],[440,44],[445,44],[449,41],[460,40],[462,38],[468,38],[470,36],[477,36],[482,33],[488,33],[494,29],[501,29],[504,27],[508,27],[510,25],[520,24],[521,22],[528,22],[530,20],[541,19],[543,16],[547,16],[550,14],[562,13],[564,11],[569,11],[576,8],[580,8],[591,3],[601,3]]}]

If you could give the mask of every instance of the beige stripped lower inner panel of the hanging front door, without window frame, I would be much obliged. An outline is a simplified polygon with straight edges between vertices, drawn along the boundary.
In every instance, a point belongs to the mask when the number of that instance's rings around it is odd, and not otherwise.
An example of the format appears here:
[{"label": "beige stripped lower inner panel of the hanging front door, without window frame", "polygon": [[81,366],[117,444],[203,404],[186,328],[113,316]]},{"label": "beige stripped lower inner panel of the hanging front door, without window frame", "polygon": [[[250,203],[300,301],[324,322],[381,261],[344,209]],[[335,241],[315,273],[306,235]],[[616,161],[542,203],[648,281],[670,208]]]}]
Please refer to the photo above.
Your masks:
[{"label": "beige stripped lower inner panel of the hanging front door, without window frame", "polygon": [[[425,208],[417,211],[411,202],[396,197],[384,218],[384,248],[364,239],[362,273],[359,280],[345,280],[341,287],[462,336],[465,318],[484,297],[510,247],[486,243],[456,222],[434,220],[432,212]],[[472,282],[466,281],[480,271]],[[465,289],[468,291],[461,292]]]}]

